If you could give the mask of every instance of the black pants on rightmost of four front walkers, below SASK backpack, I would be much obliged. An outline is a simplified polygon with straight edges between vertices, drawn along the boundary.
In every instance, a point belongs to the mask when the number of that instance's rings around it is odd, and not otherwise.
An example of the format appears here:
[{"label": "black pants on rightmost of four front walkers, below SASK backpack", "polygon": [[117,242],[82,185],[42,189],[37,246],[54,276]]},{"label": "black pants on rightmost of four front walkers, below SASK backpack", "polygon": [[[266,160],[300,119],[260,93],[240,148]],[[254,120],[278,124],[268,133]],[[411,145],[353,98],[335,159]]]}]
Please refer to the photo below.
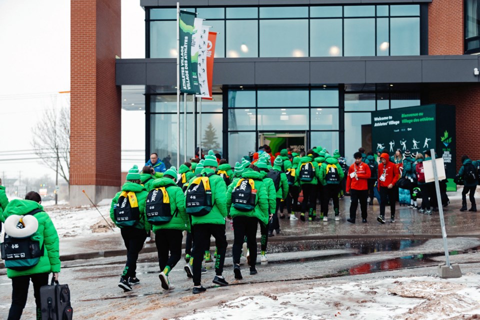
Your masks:
[{"label": "black pants on rightmost of four front walkers, below SASK backpack", "polygon": [[233,264],[240,263],[241,247],[246,236],[246,244],[250,250],[250,266],[255,266],[257,226],[258,219],[255,217],[244,215],[233,217]]}]

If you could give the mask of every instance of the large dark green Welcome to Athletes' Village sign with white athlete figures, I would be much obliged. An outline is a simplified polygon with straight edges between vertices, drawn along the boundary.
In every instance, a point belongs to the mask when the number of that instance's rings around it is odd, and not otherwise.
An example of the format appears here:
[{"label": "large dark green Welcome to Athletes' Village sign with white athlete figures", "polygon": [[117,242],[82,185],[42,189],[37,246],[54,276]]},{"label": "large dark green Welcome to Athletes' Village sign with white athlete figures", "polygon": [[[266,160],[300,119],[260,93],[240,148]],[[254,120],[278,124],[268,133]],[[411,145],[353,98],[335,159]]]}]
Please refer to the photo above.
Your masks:
[{"label": "large dark green Welcome to Athletes' Village sign with white athlete figures", "polygon": [[371,134],[372,148],[390,155],[396,149],[423,152],[434,148],[437,157],[443,157],[449,183],[455,176],[455,106],[427,104],[375,111]]}]

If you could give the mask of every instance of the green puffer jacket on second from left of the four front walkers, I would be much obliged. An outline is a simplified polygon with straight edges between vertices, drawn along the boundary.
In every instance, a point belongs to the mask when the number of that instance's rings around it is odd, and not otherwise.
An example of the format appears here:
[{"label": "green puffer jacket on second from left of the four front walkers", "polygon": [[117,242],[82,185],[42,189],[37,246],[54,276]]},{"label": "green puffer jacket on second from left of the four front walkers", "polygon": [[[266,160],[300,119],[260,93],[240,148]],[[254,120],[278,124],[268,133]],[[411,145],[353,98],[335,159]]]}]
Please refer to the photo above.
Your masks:
[{"label": "green puffer jacket on second from left of the four front walkers", "polygon": [[[175,212],[168,223],[155,225],[152,224],[153,232],[160,229],[175,229],[186,230],[190,232],[190,220],[185,211],[185,195],[179,186],[170,178],[156,179],[151,186],[151,189],[165,187],[166,193],[170,198],[170,210],[171,213]],[[178,209],[178,211],[176,211]]]}]

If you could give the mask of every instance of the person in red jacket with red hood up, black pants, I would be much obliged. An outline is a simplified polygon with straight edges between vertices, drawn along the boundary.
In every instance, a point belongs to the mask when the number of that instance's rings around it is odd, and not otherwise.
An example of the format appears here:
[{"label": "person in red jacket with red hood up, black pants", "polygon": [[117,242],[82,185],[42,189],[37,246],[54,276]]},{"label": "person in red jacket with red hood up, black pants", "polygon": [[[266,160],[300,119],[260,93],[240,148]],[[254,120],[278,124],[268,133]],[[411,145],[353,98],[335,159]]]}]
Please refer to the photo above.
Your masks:
[{"label": "person in red jacket with red hood up, black pants", "polygon": [[380,155],[380,164],[378,164],[378,192],[380,193],[380,215],[376,220],[385,223],[385,204],[386,199],[390,199],[390,222],[395,222],[395,194],[394,188],[398,180],[398,169],[395,163],[390,161],[388,153]]}]

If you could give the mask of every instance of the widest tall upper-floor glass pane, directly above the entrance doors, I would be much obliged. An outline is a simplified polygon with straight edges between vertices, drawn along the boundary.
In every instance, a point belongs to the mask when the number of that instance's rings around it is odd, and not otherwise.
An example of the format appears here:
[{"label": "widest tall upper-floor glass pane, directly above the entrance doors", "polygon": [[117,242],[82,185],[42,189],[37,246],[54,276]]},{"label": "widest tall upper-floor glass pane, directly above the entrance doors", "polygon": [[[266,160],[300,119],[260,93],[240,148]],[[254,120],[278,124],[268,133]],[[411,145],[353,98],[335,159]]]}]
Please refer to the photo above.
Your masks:
[{"label": "widest tall upper-floor glass pane, directly above the entrance doors", "polygon": [[260,20],[259,49],[265,57],[308,56],[308,20]]}]

